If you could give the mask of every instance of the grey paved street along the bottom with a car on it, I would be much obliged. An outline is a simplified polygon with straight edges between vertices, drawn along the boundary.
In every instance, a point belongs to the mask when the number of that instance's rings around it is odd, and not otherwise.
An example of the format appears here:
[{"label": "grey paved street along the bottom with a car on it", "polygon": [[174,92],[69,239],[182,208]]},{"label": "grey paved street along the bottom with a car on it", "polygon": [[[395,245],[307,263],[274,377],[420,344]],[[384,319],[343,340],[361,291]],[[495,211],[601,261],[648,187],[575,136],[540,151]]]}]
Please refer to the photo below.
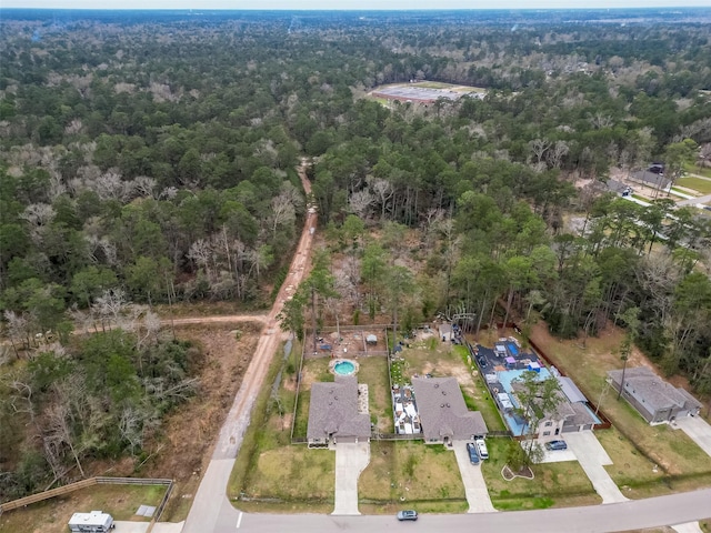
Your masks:
[{"label": "grey paved street along the bottom with a car on it", "polygon": [[[238,513],[239,515],[239,513]],[[420,532],[519,532],[525,533],[605,533],[694,522],[711,517],[711,489],[587,507],[548,509],[507,513],[420,515],[399,523],[394,516],[333,516],[247,514],[226,523],[217,533],[375,533],[381,531]]]}]

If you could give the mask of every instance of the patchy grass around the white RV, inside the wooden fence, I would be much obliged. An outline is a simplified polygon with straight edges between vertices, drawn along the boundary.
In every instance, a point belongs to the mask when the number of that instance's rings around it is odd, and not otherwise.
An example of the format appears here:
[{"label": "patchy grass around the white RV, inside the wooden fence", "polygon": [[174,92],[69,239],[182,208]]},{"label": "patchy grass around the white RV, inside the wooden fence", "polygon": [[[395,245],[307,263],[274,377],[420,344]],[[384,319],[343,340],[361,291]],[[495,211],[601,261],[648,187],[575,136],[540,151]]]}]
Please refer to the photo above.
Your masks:
[{"label": "patchy grass around the white RV, inside the wooden fence", "polygon": [[8,511],[0,516],[0,531],[12,533],[64,533],[73,513],[88,513],[94,509],[113,520],[148,522],[136,516],[141,505],[158,505],[166,494],[162,485],[94,485],[53,497],[23,509]]}]

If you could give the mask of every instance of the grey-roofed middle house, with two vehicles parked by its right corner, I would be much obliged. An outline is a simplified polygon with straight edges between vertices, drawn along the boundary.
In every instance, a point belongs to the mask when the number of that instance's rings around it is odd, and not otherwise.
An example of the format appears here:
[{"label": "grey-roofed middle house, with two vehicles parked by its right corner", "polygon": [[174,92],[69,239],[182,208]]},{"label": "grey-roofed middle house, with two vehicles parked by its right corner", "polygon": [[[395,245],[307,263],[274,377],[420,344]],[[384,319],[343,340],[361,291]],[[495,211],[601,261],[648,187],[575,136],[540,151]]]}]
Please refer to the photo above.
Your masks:
[{"label": "grey-roofed middle house, with two vehicles parked by its right corner", "polygon": [[469,411],[455,378],[413,378],[424,442],[451,445],[489,433],[479,411]]}]

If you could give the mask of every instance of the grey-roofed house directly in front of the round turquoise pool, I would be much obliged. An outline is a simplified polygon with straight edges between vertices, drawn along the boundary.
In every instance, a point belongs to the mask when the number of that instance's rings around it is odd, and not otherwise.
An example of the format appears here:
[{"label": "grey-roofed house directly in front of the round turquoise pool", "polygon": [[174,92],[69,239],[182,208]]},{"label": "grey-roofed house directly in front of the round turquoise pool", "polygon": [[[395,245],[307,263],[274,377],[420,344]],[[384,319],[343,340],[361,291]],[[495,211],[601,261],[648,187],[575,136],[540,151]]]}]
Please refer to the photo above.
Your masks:
[{"label": "grey-roofed house directly in front of the round turquoise pool", "polygon": [[370,415],[359,410],[358,394],[354,375],[336,375],[332,383],[311,385],[309,446],[370,440]]}]

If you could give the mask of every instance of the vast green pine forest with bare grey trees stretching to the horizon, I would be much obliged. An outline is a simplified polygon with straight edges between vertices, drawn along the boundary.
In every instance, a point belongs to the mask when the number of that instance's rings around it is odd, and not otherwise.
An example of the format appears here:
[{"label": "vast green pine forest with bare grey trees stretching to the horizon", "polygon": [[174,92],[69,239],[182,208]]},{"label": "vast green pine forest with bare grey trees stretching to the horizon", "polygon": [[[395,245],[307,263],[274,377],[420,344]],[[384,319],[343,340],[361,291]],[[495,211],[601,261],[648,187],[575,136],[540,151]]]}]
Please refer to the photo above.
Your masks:
[{"label": "vast green pine forest with bare grey trees stretching to the horizon", "polygon": [[[0,497],[140,456],[198,356],[152,306],[268,306],[308,202],[287,329],[612,322],[711,392],[708,211],[607,187],[711,164],[711,10],[1,14]],[[368,97],[410,80],[485,97]]]}]

